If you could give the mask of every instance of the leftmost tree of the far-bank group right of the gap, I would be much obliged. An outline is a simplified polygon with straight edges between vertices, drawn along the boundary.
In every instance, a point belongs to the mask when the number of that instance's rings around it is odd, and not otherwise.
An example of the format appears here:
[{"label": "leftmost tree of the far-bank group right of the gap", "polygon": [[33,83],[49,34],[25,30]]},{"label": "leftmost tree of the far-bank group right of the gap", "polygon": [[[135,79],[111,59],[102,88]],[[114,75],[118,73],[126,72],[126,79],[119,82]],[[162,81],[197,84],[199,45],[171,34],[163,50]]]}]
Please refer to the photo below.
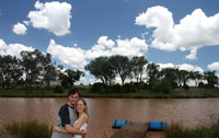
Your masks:
[{"label": "leftmost tree of the far-bank group right of the gap", "polygon": [[112,83],[112,80],[115,79],[116,70],[110,61],[108,57],[97,57],[94,60],[90,61],[85,66],[85,70],[89,70],[96,79],[101,79],[104,84]]}]

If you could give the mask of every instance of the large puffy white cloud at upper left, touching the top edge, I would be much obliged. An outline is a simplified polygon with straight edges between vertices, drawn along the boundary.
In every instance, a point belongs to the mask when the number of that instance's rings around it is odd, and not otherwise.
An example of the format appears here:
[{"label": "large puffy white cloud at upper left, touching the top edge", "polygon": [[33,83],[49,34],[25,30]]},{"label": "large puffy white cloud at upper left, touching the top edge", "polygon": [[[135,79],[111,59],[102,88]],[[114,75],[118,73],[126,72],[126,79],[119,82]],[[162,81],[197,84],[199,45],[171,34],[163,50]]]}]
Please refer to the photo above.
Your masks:
[{"label": "large puffy white cloud at upper left, touching the top edge", "polygon": [[71,4],[36,1],[35,8],[36,11],[31,11],[27,15],[33,27],[48,30],[57,36],[70,33]]}]

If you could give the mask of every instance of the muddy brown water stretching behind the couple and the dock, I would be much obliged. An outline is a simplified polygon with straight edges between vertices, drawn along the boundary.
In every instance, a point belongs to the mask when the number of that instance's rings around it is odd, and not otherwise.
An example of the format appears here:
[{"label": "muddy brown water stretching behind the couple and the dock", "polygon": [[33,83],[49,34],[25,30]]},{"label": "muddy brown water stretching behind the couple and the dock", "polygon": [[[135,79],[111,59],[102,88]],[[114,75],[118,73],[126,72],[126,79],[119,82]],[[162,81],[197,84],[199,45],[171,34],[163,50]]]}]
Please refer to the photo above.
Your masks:
[{"label": "muddy brown water stretching behind the couple and the dock", "polygon": [[[101,138],[113,119],[180,122],[185,127],[219,118],[219,99],[85,99],[89,105],[87,138]],[[0,97],[0,128],[12,120],[37,119],[53,125],[67,99]]]}]

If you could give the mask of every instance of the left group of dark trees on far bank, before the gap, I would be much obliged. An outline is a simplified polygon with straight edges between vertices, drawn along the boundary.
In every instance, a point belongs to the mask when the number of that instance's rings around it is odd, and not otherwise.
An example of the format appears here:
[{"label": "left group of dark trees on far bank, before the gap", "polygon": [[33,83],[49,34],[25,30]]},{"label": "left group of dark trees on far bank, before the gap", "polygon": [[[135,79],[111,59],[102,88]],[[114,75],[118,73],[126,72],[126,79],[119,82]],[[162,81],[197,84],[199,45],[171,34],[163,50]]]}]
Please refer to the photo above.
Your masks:
[{"label": "left group of dark trees on far bank, before the gap", "polygon": [[0,84],[2,88],[47,85],[59,81],[61,85],[73,85],[84,73],[80,70],[66,69],[51,61],[50,54],[21,51],[21,58],[15,56],[0,56]]}]

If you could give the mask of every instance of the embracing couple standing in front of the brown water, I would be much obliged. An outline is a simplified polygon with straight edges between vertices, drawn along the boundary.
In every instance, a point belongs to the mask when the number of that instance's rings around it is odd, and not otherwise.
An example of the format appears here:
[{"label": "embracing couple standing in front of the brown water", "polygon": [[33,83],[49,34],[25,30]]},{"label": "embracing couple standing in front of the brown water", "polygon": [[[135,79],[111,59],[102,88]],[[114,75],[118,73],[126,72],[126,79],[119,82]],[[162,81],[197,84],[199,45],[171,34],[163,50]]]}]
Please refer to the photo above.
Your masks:
[{"label": "embracing couple standing in front of the brown water", "polygon": [[76,88],[68,93],[69,101],[64,104],[54,126],[51,138],[84,138],[88,127],[88,105],[79,97]]}]

